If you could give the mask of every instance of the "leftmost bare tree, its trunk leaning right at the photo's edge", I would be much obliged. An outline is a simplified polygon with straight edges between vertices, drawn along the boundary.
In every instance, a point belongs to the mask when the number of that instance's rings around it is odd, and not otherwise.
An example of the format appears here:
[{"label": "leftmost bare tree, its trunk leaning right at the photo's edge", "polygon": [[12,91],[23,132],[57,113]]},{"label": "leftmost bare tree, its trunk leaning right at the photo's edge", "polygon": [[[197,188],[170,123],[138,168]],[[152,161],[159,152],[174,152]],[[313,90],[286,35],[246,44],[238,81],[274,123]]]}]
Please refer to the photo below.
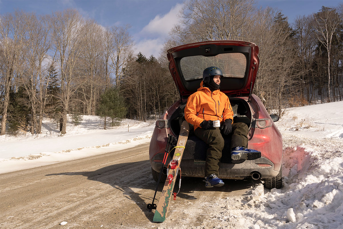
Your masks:
[{"label": "leftmost bare tree, its trunk leaning right at the photo's edge", "polygon": [[22,52],[24,45],[24,36],[26,27],[23,18],[23,12],[14,12],[1,16],[0,19],[0,43],[1,43],[1,81],[3,82],[3,105],[0,135],[6,133],[7,110],[10,102],[10,89],[20,69],[22,63]]}]

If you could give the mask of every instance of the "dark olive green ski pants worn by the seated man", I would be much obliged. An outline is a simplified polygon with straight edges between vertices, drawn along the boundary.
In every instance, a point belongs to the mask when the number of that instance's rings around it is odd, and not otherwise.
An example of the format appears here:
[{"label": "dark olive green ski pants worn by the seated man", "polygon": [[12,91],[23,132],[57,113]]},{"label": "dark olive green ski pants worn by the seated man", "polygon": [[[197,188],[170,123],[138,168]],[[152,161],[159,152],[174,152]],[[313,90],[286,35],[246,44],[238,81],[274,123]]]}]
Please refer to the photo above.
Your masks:
[{"label": "dark olive green ski pants worn by the seated man", "polygon": [[[248,147],[248,131],[248,126],[245,123],[232,124],[231,149],[237,146]],[[194,134],[209,145],[206,152],[205,177],[211,174],[218,175],[218,164],[224,148],[224,138],[219,127],[208,130],[198,127],[194,130]]]}]

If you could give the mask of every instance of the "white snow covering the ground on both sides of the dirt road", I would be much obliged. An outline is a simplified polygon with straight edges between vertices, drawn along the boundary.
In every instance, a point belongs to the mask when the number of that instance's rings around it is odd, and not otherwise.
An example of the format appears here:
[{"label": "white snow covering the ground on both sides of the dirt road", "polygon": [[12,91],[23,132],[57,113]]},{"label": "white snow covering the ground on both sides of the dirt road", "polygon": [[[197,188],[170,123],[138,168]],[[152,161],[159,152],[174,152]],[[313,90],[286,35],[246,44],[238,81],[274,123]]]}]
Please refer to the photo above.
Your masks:
[{"label": "white snow covering the ground on both sides of the dirt road", "polygon": [[[48,122],[39,136],[0,136],[0,173],[143,144],[154,123],[125,119],[103,130],[97,116],[84,116],[64,136]],[[198,229],[343,228],[343,102],[289,108],[275,124],[283,135],[283,188],[256,184],[248,195],[202,203],[208,220]]]}]

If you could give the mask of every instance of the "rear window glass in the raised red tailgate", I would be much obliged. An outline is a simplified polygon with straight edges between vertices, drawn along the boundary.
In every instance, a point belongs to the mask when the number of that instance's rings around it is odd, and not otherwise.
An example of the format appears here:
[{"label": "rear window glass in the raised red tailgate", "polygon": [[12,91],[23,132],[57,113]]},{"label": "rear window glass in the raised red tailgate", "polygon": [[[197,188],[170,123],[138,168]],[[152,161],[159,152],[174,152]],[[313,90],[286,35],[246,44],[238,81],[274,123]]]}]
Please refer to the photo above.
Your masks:
[{"label": "rear window glass in the raised red tailgate", "polygon": [[244,78],[247,58],[242,53],[223,53],[216,56],[188,56],[180,60],[186,81],[202,79],[205,68],[215,66],[222,70],[224,78]]}]

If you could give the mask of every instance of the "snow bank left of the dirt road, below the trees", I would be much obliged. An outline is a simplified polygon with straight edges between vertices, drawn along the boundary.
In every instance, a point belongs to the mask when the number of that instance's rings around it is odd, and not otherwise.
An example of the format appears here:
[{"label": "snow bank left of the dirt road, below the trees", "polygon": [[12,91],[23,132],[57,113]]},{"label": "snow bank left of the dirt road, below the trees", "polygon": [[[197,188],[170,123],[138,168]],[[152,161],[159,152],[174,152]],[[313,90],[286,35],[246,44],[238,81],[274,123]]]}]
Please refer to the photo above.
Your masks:
[{"label": "snow bank left of the dirt road, below the trees", "polygon": [[98,116],[83,116],[80,125],[68,122],[63,136],[56,122],[45,119],[42,134],[0,136],[0,173],[84,158],[127,149],[150,142],[155,121],[123,119],[116,127],[104,130]]}]

